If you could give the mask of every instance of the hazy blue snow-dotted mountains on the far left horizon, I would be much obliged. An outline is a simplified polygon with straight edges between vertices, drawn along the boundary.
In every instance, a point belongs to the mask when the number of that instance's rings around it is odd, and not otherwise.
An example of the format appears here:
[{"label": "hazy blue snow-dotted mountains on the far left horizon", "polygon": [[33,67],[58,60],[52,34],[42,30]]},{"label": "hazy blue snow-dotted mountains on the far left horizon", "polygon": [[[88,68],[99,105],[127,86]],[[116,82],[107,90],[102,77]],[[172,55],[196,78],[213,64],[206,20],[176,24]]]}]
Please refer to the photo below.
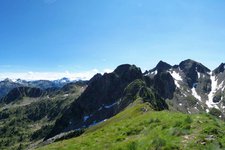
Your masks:
[{"label": "hazy blue snow-dotted mountains on the far left horizon", "polygon": [[0,81],[0,98],[5,96],[10,90],[16,87],[34,87],[40,89],[48,89],[48,88],[61,88],[64,85],[76,82],[71,81],[68,78],[62,78],[59,80],[49,81],[49,80],[36,80],[36,81],[26,81],[17,79],[16,81],[12,81],[11,79],[5,79]]}]

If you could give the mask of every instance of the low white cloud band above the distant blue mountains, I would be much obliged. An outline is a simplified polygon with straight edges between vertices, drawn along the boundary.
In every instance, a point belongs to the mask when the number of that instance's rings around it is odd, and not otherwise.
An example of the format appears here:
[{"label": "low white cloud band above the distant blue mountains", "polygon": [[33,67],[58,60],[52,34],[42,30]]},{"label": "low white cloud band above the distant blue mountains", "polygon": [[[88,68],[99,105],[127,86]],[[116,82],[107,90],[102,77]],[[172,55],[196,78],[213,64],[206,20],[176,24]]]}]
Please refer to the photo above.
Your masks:
[{"label": "low white cloud band above the distant blue mountains", "polygon": [[93,69],[84,72],[4,72],[0,73],[0,80],[10,78],[12,80],[23,79],[23,80],[57,80],[63,77],[69,78],[71,80],[89,80],[96,73],[112,72],[111,69],[104,69],[99,71],[98,69]]}]

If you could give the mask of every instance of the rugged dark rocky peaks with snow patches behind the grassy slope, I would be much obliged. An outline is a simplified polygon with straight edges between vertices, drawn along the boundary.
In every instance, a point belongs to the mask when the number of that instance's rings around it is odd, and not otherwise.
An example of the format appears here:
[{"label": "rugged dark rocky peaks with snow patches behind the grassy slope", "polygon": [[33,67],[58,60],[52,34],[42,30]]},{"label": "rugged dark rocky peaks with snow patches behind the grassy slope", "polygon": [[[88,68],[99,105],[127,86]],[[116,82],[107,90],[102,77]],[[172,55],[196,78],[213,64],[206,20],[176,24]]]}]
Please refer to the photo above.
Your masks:
[{"label": "rugged dark rocky peaks with snow patches behind the grassy slope", "polygon": [[121,112],[136,97],[149,101],[155,110],[170,106],[192,114],[215,108],[218,117],[224,119],[224,75],[224,64],[210,71],[190,59],[174,66],[160,61],[144,74],[134,65],[121,65],[112,73],[94,76],[47,138],[108,119]]}]

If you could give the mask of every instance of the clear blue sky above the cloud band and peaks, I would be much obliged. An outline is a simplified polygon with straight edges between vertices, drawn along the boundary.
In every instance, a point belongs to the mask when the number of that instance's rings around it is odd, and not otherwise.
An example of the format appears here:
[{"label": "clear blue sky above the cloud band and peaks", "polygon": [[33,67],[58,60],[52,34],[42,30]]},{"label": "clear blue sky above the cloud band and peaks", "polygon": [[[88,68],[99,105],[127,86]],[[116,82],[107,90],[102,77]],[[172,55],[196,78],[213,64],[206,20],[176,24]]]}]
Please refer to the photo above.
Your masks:
[{"label": "clear blue sky above the cloud band and peaks", "polygon": [[214,69],[225,62],[224,14],[224,0],[2,0],[0,78],[187,58]]}]

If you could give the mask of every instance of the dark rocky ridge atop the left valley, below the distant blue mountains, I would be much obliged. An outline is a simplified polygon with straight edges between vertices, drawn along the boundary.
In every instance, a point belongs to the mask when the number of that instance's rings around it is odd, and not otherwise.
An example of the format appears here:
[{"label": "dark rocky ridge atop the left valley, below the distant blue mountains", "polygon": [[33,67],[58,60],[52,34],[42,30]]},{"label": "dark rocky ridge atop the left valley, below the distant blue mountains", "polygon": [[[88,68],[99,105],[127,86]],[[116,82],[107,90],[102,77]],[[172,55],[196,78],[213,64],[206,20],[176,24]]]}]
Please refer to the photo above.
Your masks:
[{"label": "dark rocky ridge atop the left valley, below the distant blue mountains", "polygon": [[2,98],[2,102],[9,104],[20,100],[23,97],[36,98],[44,94],[44,91],[39,88],[30,88],[30,87],[18,87],[11,90],[5,97]]}]

